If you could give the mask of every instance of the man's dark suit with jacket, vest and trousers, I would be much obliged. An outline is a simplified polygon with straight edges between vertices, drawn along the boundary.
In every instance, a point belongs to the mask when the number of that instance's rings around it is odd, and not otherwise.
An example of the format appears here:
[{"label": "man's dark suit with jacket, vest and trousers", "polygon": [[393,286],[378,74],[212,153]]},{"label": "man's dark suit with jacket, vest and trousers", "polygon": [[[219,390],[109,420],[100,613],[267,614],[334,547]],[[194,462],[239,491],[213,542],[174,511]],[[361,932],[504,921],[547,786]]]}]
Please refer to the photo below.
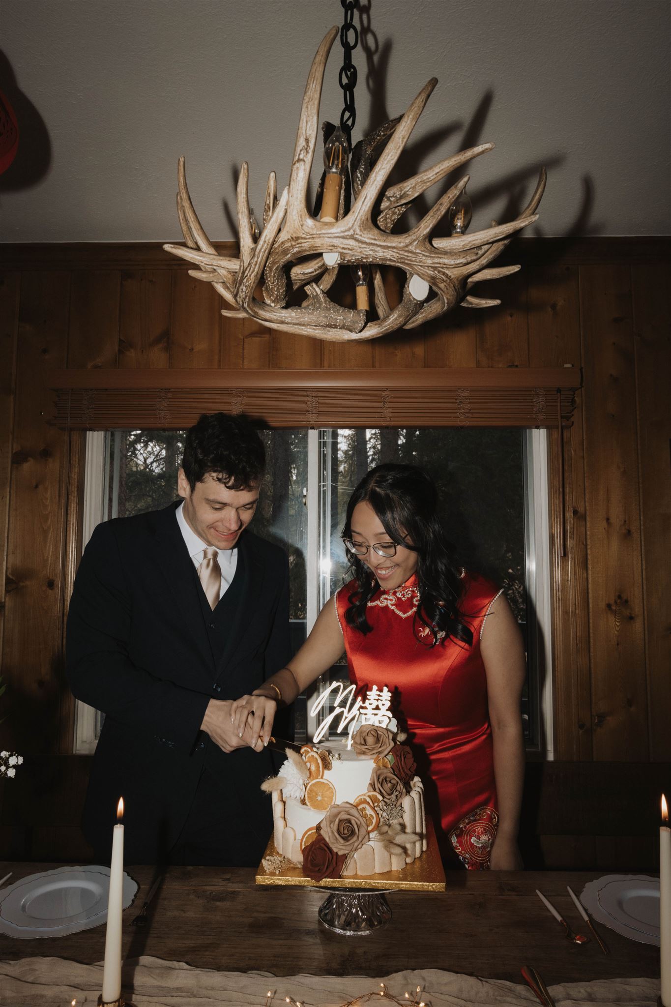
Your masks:
[{"label": "man's dark suit with jacket, vest and trousers", "polygon": [[242,828],[266,839],[272,829],[260,789],[273,772],[270,752],[224,753],[200,724],[210,699],[251,692],[287,664],[287,557],[248,529],[242,533],[235,579],[221,604],[229,592],[235,600],[224,631],[215,633],[176,508],[99,525],[67,617],[70,688],[105,713],[85,835],[97,851],[110,846],[123,796],[126,859],[136,863],[155,863],[174,844],[204,764],[237,792]]}]

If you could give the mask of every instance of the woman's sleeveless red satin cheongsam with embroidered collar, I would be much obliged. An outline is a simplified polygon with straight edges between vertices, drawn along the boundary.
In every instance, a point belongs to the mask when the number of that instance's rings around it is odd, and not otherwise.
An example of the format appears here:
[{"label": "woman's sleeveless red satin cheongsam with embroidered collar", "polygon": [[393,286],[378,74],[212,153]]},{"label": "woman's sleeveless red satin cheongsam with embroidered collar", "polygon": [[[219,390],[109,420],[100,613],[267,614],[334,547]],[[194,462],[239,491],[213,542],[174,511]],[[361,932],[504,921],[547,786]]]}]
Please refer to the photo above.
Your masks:
[{"label": "woman's sleeveless red satin cheongsam with embroidered collar", "polygon": [[473,631],[472,645],[448,637],[430,646],[432,634],[421,622],[417,632],[424,630],[426,642],[417,639],[416,575],[373,595],[366,610],[373,628],[365,635],[345,621],[355,581],[340,588],[335,603],[357,693],[386,686],[399,726],[407,726],[442,852],[458,857],[470,870],[482,870],[489,867],[498,814],[480,639],[501,592],[484,577],[465,574],[464,581],[459,607]]}]

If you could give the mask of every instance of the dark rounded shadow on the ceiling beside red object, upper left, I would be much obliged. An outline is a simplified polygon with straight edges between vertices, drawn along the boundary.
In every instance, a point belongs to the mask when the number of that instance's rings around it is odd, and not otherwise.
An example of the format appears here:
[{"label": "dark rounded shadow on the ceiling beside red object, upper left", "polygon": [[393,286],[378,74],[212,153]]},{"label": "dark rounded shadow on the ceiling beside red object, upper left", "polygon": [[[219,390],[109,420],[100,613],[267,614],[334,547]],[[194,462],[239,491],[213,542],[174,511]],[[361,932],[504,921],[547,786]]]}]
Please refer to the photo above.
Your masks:
[{"label": "dark rounded shadow on the ceiling beside red object, upper left", "polygon": [[16,157],[0,175],[0,192],[17,192],[32,188],[46,175],[51,164],[51,140],[44,120],[21,91],[12,64],[1,50],[0,91],[14,110],[19,133]]}]

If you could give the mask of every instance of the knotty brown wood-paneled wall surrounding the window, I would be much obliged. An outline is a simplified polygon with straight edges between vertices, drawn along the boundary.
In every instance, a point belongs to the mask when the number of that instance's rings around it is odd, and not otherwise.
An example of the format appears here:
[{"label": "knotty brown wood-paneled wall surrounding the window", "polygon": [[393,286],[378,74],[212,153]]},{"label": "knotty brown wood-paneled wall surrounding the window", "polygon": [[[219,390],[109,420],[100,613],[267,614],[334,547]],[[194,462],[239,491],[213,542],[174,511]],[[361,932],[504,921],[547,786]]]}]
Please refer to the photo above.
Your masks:
[{"label": "knotty brown wood-paneled wall surrounding the window", "polygon": [[80,438],[45,423],[45,371],[581,365],[574,424],[550,434],[555,754],[671,759],[670,243],[510,251],[523,268],[488,287],[500,308],[344,345],[224,319],[211,287],[158,247],[0,247],[0,747],[71,750],[62,616]]}]

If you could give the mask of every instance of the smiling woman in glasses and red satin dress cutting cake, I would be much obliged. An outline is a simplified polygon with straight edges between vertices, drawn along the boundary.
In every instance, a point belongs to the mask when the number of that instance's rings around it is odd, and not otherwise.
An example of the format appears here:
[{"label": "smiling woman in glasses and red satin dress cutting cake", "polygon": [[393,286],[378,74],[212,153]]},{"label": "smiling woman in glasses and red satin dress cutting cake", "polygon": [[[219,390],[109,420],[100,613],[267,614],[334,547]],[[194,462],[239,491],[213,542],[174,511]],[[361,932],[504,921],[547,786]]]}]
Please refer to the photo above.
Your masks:
[{"label": "smiling woman in glasses and red satin dress cutting cake", "polygon": [[455,568],[437,502],[420,468],[368,472],[343,529],[352,579],[288,667],[235,701],[231,719],[241,732],[254,716],[259,747],[268,743],[278,703],[293,702],[344,649],[362,693],[376,685],[394,696],[444,856],[471,870],[517,870],[522,638],[496,585]]}]

